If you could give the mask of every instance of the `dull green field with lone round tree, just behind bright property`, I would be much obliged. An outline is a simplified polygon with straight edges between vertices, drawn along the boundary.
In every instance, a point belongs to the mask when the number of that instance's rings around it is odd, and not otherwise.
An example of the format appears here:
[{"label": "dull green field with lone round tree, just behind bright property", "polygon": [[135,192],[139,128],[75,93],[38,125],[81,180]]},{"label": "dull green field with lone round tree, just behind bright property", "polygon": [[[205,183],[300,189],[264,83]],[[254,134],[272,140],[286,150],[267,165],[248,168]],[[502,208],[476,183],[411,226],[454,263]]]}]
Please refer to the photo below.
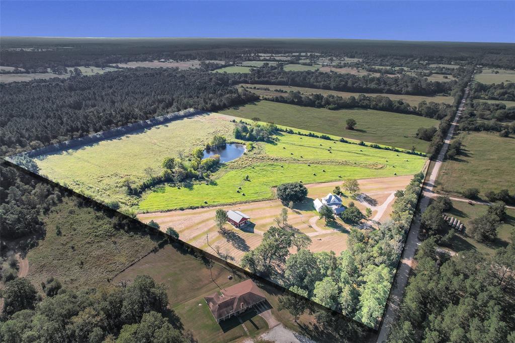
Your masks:
[{"label": "dull green field with lone round tree, just behind bright property", "polygon": [[[438,121],[417,115],[400,114],[368,109],[328,110],[261,100],[245,106],[221,111],[222,114],[242,118],[259,117],[263,122],[333,134],[340,137],[384,144],[403,149],[415,146],[425,152],[429,142],[419,140],[415,134],[420,127],[438,126]],[[354,118],[356,130],[347,130],[345,121]]]}]

